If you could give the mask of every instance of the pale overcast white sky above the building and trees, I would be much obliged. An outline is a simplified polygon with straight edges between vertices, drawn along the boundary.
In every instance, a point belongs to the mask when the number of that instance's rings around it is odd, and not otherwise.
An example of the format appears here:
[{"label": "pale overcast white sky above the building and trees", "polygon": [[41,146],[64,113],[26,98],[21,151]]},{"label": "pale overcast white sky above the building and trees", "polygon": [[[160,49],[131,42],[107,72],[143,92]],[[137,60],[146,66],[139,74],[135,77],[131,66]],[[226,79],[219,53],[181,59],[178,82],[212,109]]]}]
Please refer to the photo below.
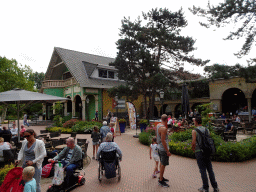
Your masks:
[{"label": "pale overcast white sky above the building and trees", "polygon": [[[196,58],[214,63],[247,65],[233,53],[242,46],[241,40],[224,41],[232,27],[206,29],[199,25],[202,18],[194,16],[188,7],[205,8],[207,0],[8,0],[0,1],[0,56],[16,59],[34,72],[46,72],[54,47],[84,53],[116,57],[121,20],[135,20],[152,8],[168,8],[175,12],[181,7],[188,21],[182,35],[196,39],[193,52]],[[222,0],[214,0],[216,5]],[[255,49],[254,49],[255,50]],[[253,51],[251,51],[252,53]],[[255,56],[254,56],[255,57]],[[185,65],[185,70],[203,74],[203,67]]]}]

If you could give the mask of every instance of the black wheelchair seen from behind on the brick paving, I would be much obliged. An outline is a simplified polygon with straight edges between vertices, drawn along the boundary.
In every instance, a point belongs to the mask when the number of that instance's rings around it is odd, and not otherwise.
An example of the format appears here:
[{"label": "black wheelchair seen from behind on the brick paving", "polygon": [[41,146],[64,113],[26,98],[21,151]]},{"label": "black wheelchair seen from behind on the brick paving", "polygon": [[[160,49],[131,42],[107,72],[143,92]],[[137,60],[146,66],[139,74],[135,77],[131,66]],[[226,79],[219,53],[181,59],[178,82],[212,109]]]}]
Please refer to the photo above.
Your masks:
[{"label": "black wheelchair seen from behind on the brick paving", "polygon": [[[107,179],[117,177],[118,181],[121,179],[121,167],[119,164],[119,157],[117,157],[116,150],[110,152],[101,152],[99,159],[98,179],[101,182],[102,176],[105,175]],[[104,174],[105,172],[105,174]]]}]

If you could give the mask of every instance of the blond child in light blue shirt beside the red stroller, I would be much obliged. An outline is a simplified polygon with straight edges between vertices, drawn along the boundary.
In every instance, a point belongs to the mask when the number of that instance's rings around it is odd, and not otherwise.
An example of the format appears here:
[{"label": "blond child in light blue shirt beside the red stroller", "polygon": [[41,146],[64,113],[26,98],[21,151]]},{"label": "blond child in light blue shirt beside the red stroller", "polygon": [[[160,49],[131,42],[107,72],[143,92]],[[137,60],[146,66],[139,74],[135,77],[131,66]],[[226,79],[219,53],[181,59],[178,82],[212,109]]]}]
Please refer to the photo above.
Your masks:
[{"label": "blond child in light blue shirt beside the red stroller", "polygon": [[25,167],[22,172],[22,178],[25,181],[24,192],[36,192],[36,180],[33,178],[35,168],[32,166]]}]

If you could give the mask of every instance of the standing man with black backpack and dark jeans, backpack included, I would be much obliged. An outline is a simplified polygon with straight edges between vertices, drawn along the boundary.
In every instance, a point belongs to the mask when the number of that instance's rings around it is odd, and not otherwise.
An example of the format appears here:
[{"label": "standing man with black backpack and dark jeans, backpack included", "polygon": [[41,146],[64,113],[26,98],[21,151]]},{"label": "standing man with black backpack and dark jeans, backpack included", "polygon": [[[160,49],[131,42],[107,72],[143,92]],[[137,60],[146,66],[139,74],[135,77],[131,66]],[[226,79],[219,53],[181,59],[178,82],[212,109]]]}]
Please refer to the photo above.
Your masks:
[{"label": "standing man with black backpack and dark jeans, backpack included", "polygon": [[214,153],[215,150],[213,140],[210,138],[210,131],[202,126],[202,119],[200,116],[196,117],[195,126],[197,128],[192,131],[192,150],[195,152],[197,164],[203,181],[203,187],[198,189],[198,191],[209,191],[209,184],[206,173],[207,170],[211,185],[214,188],[214,192],[218,192],[219,188],[215,180],[215,175],[210,159],[210,155]]}]

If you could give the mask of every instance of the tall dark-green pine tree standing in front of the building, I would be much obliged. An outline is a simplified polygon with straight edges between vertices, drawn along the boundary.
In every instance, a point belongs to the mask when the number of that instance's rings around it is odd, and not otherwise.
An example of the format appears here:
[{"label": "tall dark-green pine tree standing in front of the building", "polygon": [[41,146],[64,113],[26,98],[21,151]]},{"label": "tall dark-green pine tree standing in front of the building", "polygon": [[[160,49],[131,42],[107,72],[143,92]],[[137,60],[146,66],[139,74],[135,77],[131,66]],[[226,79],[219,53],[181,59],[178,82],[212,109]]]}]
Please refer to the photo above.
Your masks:
[{"label": "tall dark-green pine tree standing in front of the building", "polygon": [[133,93],[144,95],[145,103],[149,97],[152,117],[157,91],[165,89],[172,79],[171,75],[165,76],[162,66],[168,65],[169,69],[177,71],[183,62],[204,65],[208,60],[189,55],[195,41],[180,35],[187,25],[182,9],[172,13],[166,8],[156,8],[142,15],[145,25],[140,17],[133,22],[130,18],[122,20],[113,65],[118,69],[119,79],[125,80]]}]

